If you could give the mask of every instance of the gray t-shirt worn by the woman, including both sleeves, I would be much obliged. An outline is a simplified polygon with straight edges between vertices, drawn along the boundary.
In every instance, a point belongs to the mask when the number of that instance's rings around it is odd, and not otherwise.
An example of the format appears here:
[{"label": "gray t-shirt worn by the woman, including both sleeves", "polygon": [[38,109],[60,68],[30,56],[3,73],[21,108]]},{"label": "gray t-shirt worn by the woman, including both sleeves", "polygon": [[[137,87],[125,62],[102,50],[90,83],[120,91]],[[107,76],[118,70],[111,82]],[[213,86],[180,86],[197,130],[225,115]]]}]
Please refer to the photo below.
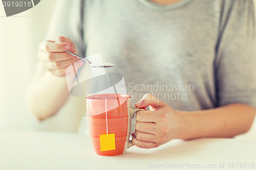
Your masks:
[{"label": "gray t-shirt worn by the woman, including both sleeves", "polygon": [[178,110],[256,107],[252,0],[63,0],[47,39],[60,35],[114,63],[108,72],[124,76],[132,105],[151,93]]}]

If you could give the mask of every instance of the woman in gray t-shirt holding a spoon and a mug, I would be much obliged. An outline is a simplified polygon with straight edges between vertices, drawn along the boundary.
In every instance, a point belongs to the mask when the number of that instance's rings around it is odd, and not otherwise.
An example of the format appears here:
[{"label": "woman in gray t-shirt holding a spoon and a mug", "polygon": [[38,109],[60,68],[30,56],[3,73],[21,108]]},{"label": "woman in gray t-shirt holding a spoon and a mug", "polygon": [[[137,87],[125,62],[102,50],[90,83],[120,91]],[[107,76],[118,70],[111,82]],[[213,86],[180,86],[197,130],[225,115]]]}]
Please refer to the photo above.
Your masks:
[{"label": "woman in gray t-shirt holding a spoon and a mug", "polygon": [[136,115],[137,147],[233,137],[253,123],[252,0],[59,1],[47,39],[37,56],[47,71],[37,69],[28,92],[39,119],[67,100],[65,70],[78,60],[70,50],[116,64],[110,71],[124,76],[132,104],[150,93],[135,105],[151,108]]}]

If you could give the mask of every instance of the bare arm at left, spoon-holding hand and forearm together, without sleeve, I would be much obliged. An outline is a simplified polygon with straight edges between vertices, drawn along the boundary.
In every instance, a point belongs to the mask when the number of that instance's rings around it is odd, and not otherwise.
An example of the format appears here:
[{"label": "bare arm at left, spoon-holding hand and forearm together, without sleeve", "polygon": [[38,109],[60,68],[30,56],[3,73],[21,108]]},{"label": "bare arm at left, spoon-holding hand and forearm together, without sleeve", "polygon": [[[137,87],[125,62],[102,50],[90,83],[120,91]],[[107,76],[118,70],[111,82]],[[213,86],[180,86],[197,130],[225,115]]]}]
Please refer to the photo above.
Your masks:
[{"label": "bare arm at left, spoon-holding hand and forearm together, without sleeve", "polygon": [[41,71],[38,66],[27,90],[28,106],[39,120],[54,115],[66,102],[69,95],[65,78],[68,66],[82,66],[78,57],[65,52],[71,50],[76,53],[73,41],[60,36],[56,42],[46,40],[40,44],[37,58],[46,71]]}]

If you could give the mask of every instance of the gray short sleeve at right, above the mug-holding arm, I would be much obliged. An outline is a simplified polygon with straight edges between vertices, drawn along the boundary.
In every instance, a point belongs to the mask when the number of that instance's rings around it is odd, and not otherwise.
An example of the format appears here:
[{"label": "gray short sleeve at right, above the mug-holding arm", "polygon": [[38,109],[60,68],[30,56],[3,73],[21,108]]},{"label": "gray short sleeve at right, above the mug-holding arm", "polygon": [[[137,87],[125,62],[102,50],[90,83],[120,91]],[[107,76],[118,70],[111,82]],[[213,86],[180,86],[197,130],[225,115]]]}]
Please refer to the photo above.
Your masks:
[{"label": "gray short sleeve at right, above the mug-holding arm", "polygon": [[253,1],[223,2],[215,61],[218,105],[244,103],[256,108]]}]

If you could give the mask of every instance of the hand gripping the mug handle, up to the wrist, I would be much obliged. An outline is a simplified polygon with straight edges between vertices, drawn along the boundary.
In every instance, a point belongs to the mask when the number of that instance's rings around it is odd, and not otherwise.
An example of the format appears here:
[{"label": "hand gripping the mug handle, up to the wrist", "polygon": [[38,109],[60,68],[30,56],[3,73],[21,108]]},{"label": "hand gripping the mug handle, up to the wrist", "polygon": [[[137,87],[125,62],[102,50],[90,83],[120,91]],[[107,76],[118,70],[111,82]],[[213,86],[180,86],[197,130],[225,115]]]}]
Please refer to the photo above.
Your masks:
[{"label": "hand gripping the mug handle, up to the wrist", "polygon": [[157,99],[154,95],[145,94],[135,104],[137,108],[150,106],[150,111],[136,113],[136,125],[133,144],[139,148],[157,148],[178,137],[182,127],[182,114]]}]

